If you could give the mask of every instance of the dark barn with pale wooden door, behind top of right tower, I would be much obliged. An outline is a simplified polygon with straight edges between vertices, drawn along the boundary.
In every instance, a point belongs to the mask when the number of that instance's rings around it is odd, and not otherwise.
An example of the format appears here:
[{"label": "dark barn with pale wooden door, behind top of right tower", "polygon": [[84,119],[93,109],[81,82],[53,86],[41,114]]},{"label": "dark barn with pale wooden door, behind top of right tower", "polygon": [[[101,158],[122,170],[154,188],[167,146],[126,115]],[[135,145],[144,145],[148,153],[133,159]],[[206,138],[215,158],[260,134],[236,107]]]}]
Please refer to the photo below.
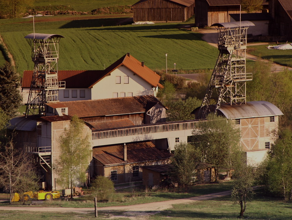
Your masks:
[{"label": "dark barn with pale wooden door, behind top of right tower", "polygon": [[[268,8],[263,3],[263,10]],[[261,11],[256,11],[261,12]],[[240,0],[196,0],[195,25],[198,27],[211,26],[215,23],[230,22],[230,14],[240,13]],[[241,13],[246,13],[241,11]]]}]

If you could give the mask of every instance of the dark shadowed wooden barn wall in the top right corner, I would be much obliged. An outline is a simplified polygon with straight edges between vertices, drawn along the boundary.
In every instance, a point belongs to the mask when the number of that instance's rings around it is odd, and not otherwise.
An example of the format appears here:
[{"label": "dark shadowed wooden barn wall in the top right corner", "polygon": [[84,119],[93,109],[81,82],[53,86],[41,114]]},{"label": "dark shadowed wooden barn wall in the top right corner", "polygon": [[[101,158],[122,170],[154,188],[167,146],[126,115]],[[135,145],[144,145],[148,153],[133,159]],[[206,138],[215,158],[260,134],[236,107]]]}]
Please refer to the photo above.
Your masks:
[{"label": "dark shadowed wooden barn wall in the top right corner", "polygon": [[269,2],[271,14],[274,18],[269,24],[269,34],[273,36],[286,36],[286,40],[292,41],[292,20],[281,6],[279,1]]}]

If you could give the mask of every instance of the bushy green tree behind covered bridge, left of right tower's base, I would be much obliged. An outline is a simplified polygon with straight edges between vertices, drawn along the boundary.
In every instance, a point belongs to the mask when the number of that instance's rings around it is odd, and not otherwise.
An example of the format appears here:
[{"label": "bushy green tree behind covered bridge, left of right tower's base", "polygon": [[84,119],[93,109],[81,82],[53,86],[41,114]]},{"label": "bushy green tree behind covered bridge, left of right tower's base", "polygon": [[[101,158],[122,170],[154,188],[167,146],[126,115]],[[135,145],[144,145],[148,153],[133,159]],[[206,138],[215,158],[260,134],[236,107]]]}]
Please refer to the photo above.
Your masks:
[{"label": "bushy green tree behind covered bridge, left of right tower's base", "polygon": [[184,121],[194,119],[190,113],[201,105],[201,101],[197,98],[189,97],[186,100],[172,101],[167,110],[167,121]]}]

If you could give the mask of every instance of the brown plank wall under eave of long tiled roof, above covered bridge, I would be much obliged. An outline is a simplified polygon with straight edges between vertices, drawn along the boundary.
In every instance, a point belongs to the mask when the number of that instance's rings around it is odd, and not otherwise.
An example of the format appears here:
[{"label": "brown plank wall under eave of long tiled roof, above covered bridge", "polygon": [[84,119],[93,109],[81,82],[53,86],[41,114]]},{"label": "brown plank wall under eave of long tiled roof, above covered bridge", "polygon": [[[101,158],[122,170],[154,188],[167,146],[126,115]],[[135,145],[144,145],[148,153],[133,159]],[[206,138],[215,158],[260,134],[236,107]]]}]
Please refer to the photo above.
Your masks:
[{"label": "brown plank wall under eave of long tiled roof, above covered bridge", "polygon": [[91,123],[91,122],[113,121],[113,120],[119,120],[119,119],[125,119],[125,118],[130,119],[130,121],[132,121],[135,125],[142,125],[144,122],[144,113],[116,115],[116,116],[89,117],[89,118],[82,118],[82,120],[88,123]]}]

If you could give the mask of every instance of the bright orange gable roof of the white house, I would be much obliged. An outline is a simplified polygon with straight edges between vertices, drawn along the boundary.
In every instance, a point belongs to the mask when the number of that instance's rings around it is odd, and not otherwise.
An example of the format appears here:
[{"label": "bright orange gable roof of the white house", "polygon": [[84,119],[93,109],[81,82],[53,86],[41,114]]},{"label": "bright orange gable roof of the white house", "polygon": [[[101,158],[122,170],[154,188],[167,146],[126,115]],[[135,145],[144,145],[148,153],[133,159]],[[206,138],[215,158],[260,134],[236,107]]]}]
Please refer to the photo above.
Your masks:
[{"label": "bright orange gable roof of the white house", "polygon": [[[147,83],[149,83],[153,87],[159,86],[160,88],[163,88],[163,85],[159,83],[160,75],[156,74],[147,66],[145,65],[142,66],[142,63],[138,61],[137,59],[135,59],[133,56],[131,56],[130,53],[127,53],[126,55],[122,56],[112,65],[107,67],[105,69],[105,73],[103,74],[102,78],[109,75],[112,71],[114,71],[120,66],[125,66],[126,68],[128,68],[129,70],[131,70],[132,72],[140,76],[143,80],[145,80]],[[89,86],[89,88],[92,88],[102,78],[94,82],[91,86]]]}]

